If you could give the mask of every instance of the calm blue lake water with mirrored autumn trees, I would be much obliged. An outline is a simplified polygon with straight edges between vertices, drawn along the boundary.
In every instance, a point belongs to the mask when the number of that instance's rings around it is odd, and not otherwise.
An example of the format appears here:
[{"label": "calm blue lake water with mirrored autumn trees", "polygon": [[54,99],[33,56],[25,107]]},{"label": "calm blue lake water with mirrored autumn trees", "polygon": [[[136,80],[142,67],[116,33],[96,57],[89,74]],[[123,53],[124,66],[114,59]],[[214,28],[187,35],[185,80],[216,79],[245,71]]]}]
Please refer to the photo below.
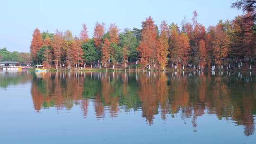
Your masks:
[{"label": "calm blue lake water with mirrored autumn trees", "polygon": [[0,72],[0,144],[256,144],[253,73]]}]

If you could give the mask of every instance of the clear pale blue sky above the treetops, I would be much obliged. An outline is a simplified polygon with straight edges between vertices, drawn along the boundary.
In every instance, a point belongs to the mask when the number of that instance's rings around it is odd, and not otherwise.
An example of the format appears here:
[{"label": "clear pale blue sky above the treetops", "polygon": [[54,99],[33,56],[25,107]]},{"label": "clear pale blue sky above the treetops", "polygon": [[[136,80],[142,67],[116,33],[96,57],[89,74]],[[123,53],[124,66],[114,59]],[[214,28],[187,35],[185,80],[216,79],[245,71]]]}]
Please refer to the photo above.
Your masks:
[{"label": "clear pale blue sky above the treetops", "polygon": [[141,28],[141,21],[152,16],[157,25],[165,19],[180,25],[182,19],[198,12],[198,21],[206,27],[219,19],[233,19],[242,14],[230,7],[234,0],[0,0],[0,48],[29,52],[32,33],[71,30],[79,35],[82,23],[92,36],[96,21],[108,27]]}]

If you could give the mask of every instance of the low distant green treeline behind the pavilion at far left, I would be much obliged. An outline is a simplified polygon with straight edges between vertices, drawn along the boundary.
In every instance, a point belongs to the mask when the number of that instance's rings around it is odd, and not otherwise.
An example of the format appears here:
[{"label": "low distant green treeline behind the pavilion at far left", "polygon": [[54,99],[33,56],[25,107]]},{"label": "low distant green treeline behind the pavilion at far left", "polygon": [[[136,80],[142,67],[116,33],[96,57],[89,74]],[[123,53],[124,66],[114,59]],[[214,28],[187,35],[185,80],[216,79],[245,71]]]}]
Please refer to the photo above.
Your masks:
[{"label": "low distant green treeline behind the pavilion at far left", "polygon": [[15,61],[24,64],[31,63],[30,53],[9,52],[6,48],[0,48],[0,62]]}]

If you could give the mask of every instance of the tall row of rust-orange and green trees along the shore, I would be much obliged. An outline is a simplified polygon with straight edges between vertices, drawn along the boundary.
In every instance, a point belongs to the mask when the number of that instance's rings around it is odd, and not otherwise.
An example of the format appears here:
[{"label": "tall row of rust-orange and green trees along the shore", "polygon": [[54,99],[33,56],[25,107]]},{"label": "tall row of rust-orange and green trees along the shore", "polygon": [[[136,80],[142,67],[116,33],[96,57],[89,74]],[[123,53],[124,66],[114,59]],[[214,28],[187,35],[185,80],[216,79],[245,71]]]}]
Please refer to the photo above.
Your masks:
[{"label": "tall row of rust-orange and green trees along the shore", "polygon": [[240,68],[242,62],[251,68],[256,54],[256,0],[250,1],[253,3],[238,0],[232,4],[242,9],[244,15],[220,20],[208,28],[197,21],[197,11],[193,12],[192,20],[184,18],[181,27],[166,21],[158,27],[148,17],[142,21],[142,29],[120,32],[116,24],[110,24],[106,31],[105,24],[97,22],[92,38],[85,24],[80,35],[74,37],[70,30],[64,33],[56,30],[52,34],[36,28],[31,56],[35,64],[56,69],[86,67],[86,64],[91,68],[126,68],[138,64],[143,70],[165,70],[167,65],[174,69],[230,69]]}]

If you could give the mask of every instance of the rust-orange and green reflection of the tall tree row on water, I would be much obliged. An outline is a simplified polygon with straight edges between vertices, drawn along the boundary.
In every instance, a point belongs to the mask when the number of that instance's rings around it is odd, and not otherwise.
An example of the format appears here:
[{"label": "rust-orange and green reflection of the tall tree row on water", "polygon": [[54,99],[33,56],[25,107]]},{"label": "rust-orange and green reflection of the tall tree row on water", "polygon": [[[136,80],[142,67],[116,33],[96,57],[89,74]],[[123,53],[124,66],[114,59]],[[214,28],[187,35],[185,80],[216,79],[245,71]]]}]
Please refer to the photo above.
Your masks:
[{"label": "rust-orange and green reflection of the tall tree row on water", "polygon": [[161,113],[163,120],[177,117],[191,120],[196,132],[197,118],[205,113],[234,120],[245,127],[245,135],[255,131],[256,89],[254,76],[237,74],[211,76],[204,73],[162,72],[64,72],[34,76],[32,98],[35,110],[41,108],[82,108],[87,117],[90,103],[97,119],[117,117],[120,109],[142,111],[149,125]]}]

